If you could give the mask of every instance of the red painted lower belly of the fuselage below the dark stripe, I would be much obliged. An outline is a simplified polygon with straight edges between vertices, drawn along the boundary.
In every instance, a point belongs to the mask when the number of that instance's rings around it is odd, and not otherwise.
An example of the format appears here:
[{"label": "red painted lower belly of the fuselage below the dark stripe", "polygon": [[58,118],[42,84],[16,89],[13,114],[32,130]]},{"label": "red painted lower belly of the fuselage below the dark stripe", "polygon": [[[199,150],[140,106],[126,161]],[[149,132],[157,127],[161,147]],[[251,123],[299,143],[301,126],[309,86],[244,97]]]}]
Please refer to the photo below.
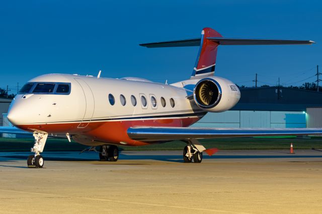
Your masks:
[{"label": "red painted lower belly of the fuselage below the dark stripe", "polygon": [[[178,118],[178,119],[155,119],[155,120],[129,120],[91,122],[85,128],[77,128],[79,123],[60,124],[33,124],[18,125],[17,127],[26,131],[39,130],[48,134],[66,134],[87,136],[90,141],[106,142],[111,144],[127,143],[127,146],[143,146],[146,142],[132,140],[127,135],[127,129],[133,126],[157,126],[157,127],[188,127],[201,118]],[[104,144],[104,143],[102,143]]]}]

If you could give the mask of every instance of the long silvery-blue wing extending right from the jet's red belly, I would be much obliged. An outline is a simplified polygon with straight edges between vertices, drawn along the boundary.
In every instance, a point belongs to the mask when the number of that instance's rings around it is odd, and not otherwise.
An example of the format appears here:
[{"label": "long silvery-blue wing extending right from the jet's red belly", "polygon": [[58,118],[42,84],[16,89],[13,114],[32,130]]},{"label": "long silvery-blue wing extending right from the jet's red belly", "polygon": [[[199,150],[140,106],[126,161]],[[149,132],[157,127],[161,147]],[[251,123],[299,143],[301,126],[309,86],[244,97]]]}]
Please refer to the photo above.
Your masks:
[{"label": "long silvery-blue wing extending right from the jet's red belly", "polygon": [[128,136],[138,141],[172,141],[189,139],[238,138],[255,136],[289,136],[322,134],[322,128],[316,129],[226,129],[195,127],[131,127]]}]

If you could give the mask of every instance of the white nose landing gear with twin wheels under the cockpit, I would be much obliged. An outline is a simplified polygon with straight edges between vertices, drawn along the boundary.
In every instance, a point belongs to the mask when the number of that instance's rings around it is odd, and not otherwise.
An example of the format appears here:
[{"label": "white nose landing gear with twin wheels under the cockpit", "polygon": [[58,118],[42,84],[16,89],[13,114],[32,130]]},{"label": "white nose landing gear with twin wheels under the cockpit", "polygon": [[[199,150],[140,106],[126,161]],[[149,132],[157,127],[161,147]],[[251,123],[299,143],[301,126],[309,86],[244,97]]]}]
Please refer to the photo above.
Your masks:
[{"label": "white nose landing gear with twin wheels under the cockpit", "polygon": [[28,168],[36,167],[43,168],[44,158],[40,153],[44,150],[48,134],[34,133],[35,144],[31,148],[31,152],[34,152],[34,155],[29,155],[27,159]]}]

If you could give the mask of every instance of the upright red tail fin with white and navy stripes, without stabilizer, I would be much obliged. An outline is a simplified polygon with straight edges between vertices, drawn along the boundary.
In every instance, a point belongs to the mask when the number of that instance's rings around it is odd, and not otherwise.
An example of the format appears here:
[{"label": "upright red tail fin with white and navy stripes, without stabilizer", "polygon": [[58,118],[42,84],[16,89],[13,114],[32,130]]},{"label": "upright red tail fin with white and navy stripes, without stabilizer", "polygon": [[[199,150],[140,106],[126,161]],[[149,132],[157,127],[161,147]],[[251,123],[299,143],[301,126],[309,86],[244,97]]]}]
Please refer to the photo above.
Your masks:
[{"label": "upright red tail fin with white and navy stripes, without stabilizer", "polygon": [[204,28],[202,30],[199,52],[191,78],[213,76],[215,73],[217,48],[219,43],[209,40],[209,37],[218,38],[222,36],[211,28]]}]

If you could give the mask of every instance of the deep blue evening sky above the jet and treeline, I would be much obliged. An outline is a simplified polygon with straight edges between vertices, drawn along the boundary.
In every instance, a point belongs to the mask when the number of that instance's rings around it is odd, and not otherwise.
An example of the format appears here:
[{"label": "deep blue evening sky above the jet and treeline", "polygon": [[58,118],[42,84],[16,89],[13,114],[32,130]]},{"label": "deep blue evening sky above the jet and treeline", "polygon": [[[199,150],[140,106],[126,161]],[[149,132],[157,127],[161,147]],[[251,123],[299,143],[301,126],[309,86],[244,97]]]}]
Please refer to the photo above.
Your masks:
[{"label": "deep blue evening sky above the jet and treeline", "polygon": [[260,85],[278,77],[300,85],[315,80],[317,64],[322,72],[320,1],[2,1],[0,20],[0,87],[13,91],[45,73],[187,79],[197,47],[138,44],[198,38],[203,27],[224,37],[317,42],[220,46],[215,75],[239,85],[254,85],[255,73]]}]

